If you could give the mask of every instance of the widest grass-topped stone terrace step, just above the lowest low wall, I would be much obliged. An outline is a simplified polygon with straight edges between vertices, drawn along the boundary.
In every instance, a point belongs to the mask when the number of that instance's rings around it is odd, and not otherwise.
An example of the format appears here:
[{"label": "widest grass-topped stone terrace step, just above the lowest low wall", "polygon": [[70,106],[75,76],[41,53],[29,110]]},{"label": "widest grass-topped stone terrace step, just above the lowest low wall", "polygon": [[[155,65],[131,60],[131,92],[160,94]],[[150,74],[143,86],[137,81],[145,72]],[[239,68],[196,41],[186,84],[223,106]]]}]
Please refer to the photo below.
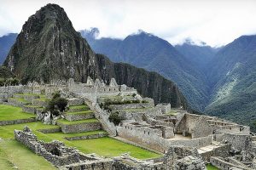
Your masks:
[{"label": "widest grass-topped stone terrace step, just above the lowest low wall", "polygon": [[82,133],[102,129],[102,124],[97,119],[85,119],[81,121],[67,121],[61,119],[57,121],[63,133]]}]

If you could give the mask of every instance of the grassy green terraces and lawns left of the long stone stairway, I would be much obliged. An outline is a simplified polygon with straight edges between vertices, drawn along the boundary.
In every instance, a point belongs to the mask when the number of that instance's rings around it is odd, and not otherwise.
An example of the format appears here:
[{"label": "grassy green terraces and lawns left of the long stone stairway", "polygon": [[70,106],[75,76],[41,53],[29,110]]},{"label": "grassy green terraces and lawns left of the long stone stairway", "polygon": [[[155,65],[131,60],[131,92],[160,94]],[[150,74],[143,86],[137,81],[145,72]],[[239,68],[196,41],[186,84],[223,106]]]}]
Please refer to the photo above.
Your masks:
[{"label": "grassy green terraces and lawns left of the long stone stairway", "polygon": [[[46,101],[44,95],[14,94],[0,105],[1,169],[13,167],[31,169],[34,164],[40,165],[43,169],[55,169],[43,157],[33,154],[31,150],[15,141],[14,130],[21,130],[25,126],[30,127],[38,139],[45,142],[60,140],[67,146],[76,147],[84,153],[112,157],[129,152],[138,159],[160,156],[152,151],[108,137],[108,133],[102,129],[101,123],[96,119],[94,111],[85,104],[69,105],[64,113],[65,118],[59,120],[57,125],[37,122],[34,113],[42,111]],[[10,152],[13,147],[17,152]],[[19,154],[22,154],[23,158],[19,158]]]}]

